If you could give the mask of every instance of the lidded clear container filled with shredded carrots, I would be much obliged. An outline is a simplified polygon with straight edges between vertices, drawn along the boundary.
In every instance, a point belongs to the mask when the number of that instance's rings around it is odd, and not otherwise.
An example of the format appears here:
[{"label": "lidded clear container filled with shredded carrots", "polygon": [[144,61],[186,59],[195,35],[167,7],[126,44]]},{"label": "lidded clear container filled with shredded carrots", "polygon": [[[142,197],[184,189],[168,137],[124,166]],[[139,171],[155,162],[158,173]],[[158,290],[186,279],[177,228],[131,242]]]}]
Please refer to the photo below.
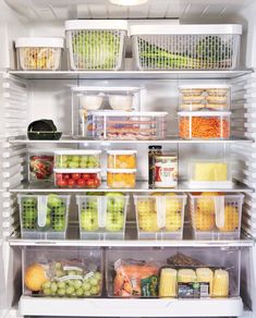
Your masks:
[{"label": "lidded clear container filled with shredded carrots", "polygon": [[183,139],[228,139],[230,112],[179,112],[179,137]]}]

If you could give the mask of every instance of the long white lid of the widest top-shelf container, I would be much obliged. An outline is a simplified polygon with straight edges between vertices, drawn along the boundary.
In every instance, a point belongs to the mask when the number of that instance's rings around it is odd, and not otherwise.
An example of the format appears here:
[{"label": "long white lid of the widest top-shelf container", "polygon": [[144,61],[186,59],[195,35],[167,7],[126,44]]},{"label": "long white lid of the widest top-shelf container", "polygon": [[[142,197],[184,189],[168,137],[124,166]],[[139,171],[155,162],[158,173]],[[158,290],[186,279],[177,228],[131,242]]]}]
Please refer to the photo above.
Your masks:
[{"label": "long white lid of the widest top-shelf container", "polygon": [[131,35],[242,35],[240,24],[183,24],[183,25],[132,25]]}]

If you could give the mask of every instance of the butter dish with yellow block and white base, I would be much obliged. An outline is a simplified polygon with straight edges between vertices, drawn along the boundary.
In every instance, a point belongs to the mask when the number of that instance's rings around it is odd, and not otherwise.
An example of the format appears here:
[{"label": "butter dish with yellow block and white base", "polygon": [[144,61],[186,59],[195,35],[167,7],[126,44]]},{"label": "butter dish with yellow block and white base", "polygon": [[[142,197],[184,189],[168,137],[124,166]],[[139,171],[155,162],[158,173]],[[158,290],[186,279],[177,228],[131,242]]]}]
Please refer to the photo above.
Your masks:
[{"label": "butter dish with yellow block and white base", "polygon": [[188,164],[188,186],[192,188],[229,188],[231,167],[224,160],[195,160]]}]

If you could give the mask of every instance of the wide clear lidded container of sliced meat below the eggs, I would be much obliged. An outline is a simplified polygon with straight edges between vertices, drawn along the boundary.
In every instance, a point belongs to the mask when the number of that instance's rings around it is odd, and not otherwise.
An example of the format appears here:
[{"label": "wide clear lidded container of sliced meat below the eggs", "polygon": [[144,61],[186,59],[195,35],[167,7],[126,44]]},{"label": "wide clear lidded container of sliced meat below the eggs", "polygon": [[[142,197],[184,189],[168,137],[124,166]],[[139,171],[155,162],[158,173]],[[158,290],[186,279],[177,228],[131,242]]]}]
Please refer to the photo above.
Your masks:
[{"label": "wide clear lidded container of sliced meat below the eggs", "polygon": [[[96,139],[163,139],[167,130],[167,112],[98,111],[88,114],[92,133]],[[88,127],[85,124],[85,127]]]}]

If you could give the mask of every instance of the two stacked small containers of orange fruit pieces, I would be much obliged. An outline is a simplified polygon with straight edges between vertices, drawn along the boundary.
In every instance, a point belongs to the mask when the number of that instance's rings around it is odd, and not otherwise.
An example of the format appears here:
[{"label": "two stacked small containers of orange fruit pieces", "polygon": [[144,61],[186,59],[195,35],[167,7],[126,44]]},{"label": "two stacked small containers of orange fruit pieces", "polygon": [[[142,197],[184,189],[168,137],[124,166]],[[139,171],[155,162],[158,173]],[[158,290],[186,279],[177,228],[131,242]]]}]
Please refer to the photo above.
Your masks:
[{"label": "two stacked small containers of orange fruit pieces", "polygon": [[136,150],[108,150],[107,185],[133,188],[136,184]]}]

